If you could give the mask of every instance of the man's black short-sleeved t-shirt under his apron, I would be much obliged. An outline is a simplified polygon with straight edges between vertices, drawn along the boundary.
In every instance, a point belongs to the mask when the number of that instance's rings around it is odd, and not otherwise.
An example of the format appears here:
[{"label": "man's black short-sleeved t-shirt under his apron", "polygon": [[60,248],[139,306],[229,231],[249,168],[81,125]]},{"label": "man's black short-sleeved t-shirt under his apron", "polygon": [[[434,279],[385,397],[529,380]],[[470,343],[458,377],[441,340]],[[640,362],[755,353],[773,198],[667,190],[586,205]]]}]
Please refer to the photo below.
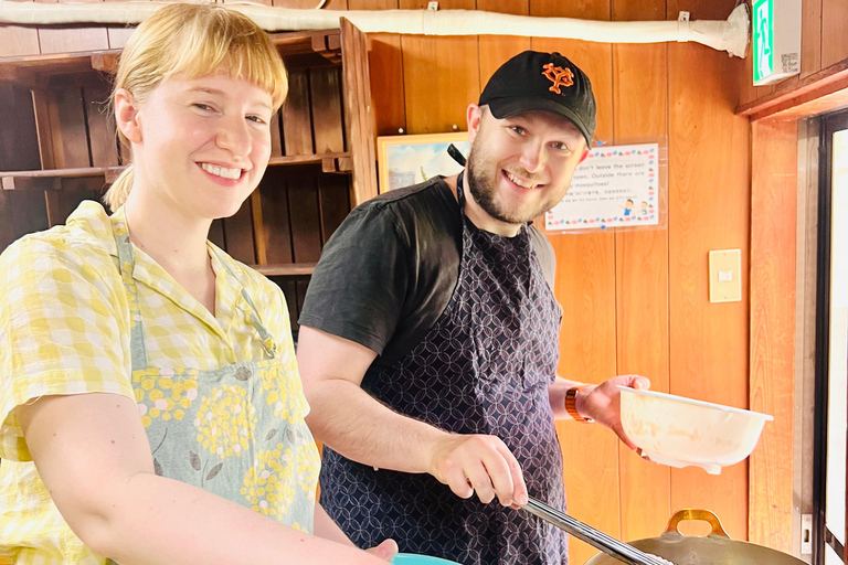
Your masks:
[{"label": "man's black short-sleeved t-shirt under his apron", "polygon": [[[550,242],[528,226],[553,288]],[[447,307],[459,278],[463,223],[443,177],[357,206],[332,234],[315,268],[299,323],[378,353],[369,371],[393,365]]]}]

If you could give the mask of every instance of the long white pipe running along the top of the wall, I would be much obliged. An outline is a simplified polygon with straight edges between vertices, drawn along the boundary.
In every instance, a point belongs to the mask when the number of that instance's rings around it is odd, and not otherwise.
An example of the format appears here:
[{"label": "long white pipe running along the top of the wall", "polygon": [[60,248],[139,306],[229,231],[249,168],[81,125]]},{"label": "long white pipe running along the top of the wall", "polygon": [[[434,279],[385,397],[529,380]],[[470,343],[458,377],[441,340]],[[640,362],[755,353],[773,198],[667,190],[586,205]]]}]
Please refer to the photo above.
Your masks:
[{"label": "long white pipe running along the top of the wall", "polygon": [[[17,2],[0,0],[0,22],[24,25],[63,23],[136,24],[167,2]],[[600,43],[702,43],[738,57],[748,46],[748,7],[738,6],[727,21],[611,22],[571,18],[534,18],[478,10],[301,10],[250,2],[226,3],[267,31],[326,30],[347,18],[367,33],[421,35],[521,35]]]}]

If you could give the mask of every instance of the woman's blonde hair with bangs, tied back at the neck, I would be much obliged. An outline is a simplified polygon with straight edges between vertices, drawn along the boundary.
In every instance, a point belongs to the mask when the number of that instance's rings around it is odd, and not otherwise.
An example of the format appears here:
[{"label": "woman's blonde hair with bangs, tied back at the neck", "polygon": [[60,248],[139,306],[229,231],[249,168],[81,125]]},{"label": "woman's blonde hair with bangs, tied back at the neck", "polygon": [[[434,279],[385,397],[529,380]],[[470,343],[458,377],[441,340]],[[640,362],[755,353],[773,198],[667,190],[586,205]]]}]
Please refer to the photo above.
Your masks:
[{"label": "woman's blonde hair with bangs, tied back at the neck", "polygon": [[[253,20],[222,6],[169,4],[157,10],[132,33],[120,55],[115,90],[126,88],[144,104],[150,92],[176,74],[188,78],[219,70],[267,90],[276,111],[286,99],[288,78],[271,38]],[[124,135],[120,140],[129,146]],[[129,163],[106,192],[113,210],[124,204],[132,188]]]}]

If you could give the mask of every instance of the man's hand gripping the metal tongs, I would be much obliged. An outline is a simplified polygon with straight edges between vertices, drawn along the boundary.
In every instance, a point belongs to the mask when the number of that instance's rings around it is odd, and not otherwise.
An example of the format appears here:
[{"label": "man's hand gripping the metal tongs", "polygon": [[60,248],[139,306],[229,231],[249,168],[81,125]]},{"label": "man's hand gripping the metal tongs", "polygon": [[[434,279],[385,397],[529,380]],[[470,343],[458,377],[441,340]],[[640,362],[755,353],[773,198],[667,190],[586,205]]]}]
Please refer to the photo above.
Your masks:
[{"label": "man's hand gripping the metal tongs", "polygon": [[431,451],[431,475],[460,498],[475,492],[488,504],[497,495],[505,507],[527,504],[521,466],[495,436],[446,435]]}]

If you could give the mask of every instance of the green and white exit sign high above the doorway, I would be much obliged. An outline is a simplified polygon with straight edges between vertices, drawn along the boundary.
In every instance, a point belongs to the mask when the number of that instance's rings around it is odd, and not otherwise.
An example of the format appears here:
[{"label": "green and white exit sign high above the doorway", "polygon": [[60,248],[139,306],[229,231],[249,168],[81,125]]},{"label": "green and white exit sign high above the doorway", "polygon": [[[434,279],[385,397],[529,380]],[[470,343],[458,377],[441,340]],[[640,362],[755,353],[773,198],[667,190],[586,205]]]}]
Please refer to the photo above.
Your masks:
[{"label": "green and white exit sign high above the doorway", "polygon": [[754,0],[754,85],[776,83],[801,72],[802,0]]}]

